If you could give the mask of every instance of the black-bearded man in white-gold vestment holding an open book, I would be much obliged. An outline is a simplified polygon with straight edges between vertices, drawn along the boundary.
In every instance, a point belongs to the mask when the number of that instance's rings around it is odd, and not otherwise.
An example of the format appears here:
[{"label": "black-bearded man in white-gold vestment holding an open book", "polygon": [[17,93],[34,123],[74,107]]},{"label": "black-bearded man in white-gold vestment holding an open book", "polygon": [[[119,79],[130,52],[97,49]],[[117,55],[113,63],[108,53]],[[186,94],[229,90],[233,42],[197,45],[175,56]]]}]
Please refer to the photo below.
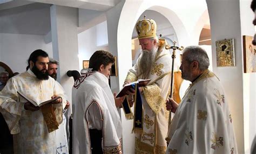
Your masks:
[{"label": "black-bearded man in white-gold vestment holding an open book", "polygon": [[[27,71],[9,79],[0,92],[0,110],[14,135],[14,153],[56,153],[55,130],[62,122],[66,100],[63,90],[49,78],[48,62],[45,51],[32,52]],[[17,91],[38,104],[57,96],[61,98],[35,107]]]}]

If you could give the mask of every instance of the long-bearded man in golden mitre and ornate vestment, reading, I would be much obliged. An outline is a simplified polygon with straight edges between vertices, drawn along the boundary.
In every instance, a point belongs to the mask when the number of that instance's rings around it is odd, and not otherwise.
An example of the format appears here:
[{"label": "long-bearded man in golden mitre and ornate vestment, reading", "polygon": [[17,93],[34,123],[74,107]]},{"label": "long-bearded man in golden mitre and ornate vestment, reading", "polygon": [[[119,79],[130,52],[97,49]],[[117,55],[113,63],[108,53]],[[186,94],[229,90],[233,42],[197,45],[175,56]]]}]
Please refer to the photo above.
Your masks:
[{"label": "long-bearded man in golden mitre and ornate vestment, reading", "polygon": [[[169,50],[165,49],[166,41],[163,39],[159,42],[157,38],[157,25],[154,20],[139,20],[136,31],[142,52],[136,64],[129,70],[124,83],[138,79],[151,81],[147,86],[139,87],[143,110],[139,111],[139,121],[134,116],[135,153],[165,153],[169,117],[165,100],[170,93],[172,57]],[[174,67],[174,71],[177,71],[177,68]],[[136,128],[137,124],[142,125]]]}]

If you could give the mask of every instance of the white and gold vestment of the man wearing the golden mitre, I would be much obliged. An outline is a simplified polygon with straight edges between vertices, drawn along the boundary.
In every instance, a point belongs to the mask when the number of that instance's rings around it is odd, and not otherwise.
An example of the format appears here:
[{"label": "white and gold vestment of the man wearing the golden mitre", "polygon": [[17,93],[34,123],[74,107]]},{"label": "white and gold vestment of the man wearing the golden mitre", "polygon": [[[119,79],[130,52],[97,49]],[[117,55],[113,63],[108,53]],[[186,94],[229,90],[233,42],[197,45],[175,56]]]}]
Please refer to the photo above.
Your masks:
[{"label": "white and gold vestment of the man wearing the golden mitre", "polygon": [[[135,138],[135,153],[165,153],[168,131],[169,111],[166,110],[165,101],[170,93],[172,57],[169,50],[165,49],[167,44],[158,47],[155,54],[152,69],[147,86],[143,87],[143,132],[137,133]],[[125,81],[137,81],[142,79],[139,74],[140,54],[136,64],[129,70]],[[174,64],[174,71],[177,71]]]}]

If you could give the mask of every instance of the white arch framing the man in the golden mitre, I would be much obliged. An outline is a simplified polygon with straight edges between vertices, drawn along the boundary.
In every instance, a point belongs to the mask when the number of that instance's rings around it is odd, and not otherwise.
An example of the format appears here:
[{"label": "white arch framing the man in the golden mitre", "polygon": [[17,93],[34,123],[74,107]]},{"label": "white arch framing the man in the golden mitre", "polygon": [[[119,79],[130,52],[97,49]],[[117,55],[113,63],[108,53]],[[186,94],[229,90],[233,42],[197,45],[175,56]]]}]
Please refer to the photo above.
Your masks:
[{"label": "white arch framing the man in the golden mitre", "polygon": [[[167,8],[166,4],[160,4],[156,1],[125,1],[122,11],[120,13],[118,27],[117,27],[117,55],[118,55],[118,71],[119,71],[119,88],[122,87],[125,80],[127,70],[132,66],[131,53],[131,38],[134,26],[140,15],[145,10],[154,10],[165,16],[172,24],[176,31],[177,38],[180,44],[188,44],[189,39],[184,24],[180,18],[171,10]],[[132,8],[132,9],[131,9]],[[108,25],[109,26],[109,25]],[[132,121],[126,121],[122,113],[123,123],[123,145],[129,145],[129,148],[124,146],[124,153],[134,153],[134,135],[130,134],[132,130]]]}]

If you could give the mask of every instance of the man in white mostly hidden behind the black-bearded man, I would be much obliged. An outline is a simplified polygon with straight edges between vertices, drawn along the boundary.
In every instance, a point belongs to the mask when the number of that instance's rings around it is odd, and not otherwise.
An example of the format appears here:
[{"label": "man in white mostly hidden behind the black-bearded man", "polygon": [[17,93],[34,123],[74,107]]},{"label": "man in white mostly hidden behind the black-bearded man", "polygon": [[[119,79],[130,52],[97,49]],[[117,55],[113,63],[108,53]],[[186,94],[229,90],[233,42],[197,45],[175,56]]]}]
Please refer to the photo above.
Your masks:
[{"label": "man in white mostly hidden behind the black-bearded man", "polygon": [[[59,62],[57,60],[53,60],[50,58],[47,71],[49,76],[51,76],[51,78],[53,78],[55,81],[57,80],[58,65],[59,65]],[[58,81],[56,81],[56,85],[62,88],[62,86]],[[59,129],[56,130],[56,153],[69,154],[69,144],[68,144],[68,135],[67,135],[69,132],[69,129],[68,131],[66,131],[66,128],[69,128],[69,127],[66,127],[67,121],[64,114],[69,109],[70,103],[68,101],[68,96],[66,96],[65,93],[64,93],[64,97],[66,99],[66,106],[63,110],[63,121],[59,125]]]}]

